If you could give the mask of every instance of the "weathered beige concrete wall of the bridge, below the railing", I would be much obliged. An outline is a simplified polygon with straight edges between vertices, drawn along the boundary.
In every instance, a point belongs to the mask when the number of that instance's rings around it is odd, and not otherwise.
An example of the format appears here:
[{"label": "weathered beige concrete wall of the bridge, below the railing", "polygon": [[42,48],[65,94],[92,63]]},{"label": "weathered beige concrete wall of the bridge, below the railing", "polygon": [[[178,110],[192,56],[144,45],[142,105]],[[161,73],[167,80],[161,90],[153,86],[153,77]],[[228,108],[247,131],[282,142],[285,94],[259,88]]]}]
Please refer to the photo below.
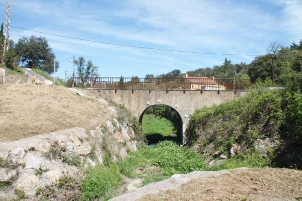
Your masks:
[{"label": "weathered beige concrete wall of the bridge, below the railing", "polygon": [[[94,92],[99,93],[98,90]],[[145,110],[154,105],[166,105],[174,108],[179,114],[183,124],[183,134],[191,115],[196,109],[204,106],[220,105],[226,100],[239,98],[248,91],[202,91],[200,90],[101,90],[99,95],[107,100],[113,100],[117,104],[124,105],[128,110],[141,120]],[[182,136],[185,141],[185,136]]]}]

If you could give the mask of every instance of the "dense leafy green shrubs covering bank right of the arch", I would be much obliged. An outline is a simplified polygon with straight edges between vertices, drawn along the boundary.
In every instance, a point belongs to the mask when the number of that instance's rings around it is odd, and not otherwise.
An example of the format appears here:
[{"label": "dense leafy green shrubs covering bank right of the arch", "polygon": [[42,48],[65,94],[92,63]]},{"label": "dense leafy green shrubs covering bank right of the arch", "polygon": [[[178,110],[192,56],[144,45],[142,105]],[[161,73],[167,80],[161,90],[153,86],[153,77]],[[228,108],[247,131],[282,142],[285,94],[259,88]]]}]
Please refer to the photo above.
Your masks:
[{"label": "dense leafy green shrubs covering bank right of the arch", "polygon": [[[301,103],[300,92],[262,89],[219,106],[196,110],[186,131],[189,144],[200,144],[199,151],[212,144],[216,150],[230,155],[234,144],[241,145],[242,152],[253,151],[257,139],[270,138],[282,141],[282,147],[266,151],[265,154],[273,152],[269,164],[283,167],[280,155],[302,145]],[[292,165],[297,164],[292,160]]]}]

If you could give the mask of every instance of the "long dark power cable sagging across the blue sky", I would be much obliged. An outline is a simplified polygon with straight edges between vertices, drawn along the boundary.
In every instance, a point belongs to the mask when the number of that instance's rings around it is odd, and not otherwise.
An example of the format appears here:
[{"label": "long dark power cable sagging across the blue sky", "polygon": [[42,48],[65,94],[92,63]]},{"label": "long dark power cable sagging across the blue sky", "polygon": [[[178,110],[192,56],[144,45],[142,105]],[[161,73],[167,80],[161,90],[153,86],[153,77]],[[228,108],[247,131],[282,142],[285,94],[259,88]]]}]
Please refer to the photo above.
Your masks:
[{"label": "long dark power cable sagging across the blue sky", "polygon": [[[14,26],[11,26],[14,27]],[[149,50],[161,50],[161,51],[169,51],[169,52],[184,52],[184,53],[194,53],[194,54],[214,54],[214,55],[235,55],[235,56],[260,56],[260,55],[255,55],[255,54],[222,54],[222,53],[208,53],[208,52],[191,52],[191,51],[182,51],[182,50],[168,50],[168,49],[160,49],[160,48],[150,48],[150,47],[141,47],[141,46],[132,46],[132,45],[122,45],[122,44],[117,44],[117,43],[107,43],[107,42],[101,42],[101,41],[93,41],[93,40],[88,40],[88,39],[81,39],[81,38],[74,38],[74,37],[69,37],[69,36],[62,36],[62,35],[57,35],[57,34],[49,34],[45,32],[39,32],[39,31],[34,31],[30,29],[24,29],[20,27],[14,27],[17,29],[23,29],[31,32],[36,32],[36,33],[41,33],[41,34],[47,34],[47,35],[52,35],[52,36],[58,36],[58,37],[63,37],[63,38],[70,38],[70,39],[75,39],[75,40],[81,40],[81,41],[89,41],[89,42],[94,42],[94,43],[102,43],[102,44],[108,44],[108,45],[117,45],[117,46],[123,46],[123,47],[134,47],[134,48],[141,48],[141,49],[149,49]]]}]

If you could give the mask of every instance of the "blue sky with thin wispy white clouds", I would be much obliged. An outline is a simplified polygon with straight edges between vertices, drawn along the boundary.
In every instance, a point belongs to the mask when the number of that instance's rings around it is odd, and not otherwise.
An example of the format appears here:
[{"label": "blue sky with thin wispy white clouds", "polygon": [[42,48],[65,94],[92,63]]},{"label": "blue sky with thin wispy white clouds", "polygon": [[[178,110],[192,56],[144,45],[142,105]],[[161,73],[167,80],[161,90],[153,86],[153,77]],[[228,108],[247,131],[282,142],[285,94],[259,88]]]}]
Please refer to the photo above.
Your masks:
[{"label": "blue sky with thin wispy white clouds", "polygon": [[[10,38],[45,37],[60,61],[55,74],[72,74],[70,57],[83,56],[102,77],[144,77],[174,69],[250,63],[270,42],[302,39],[300,0],[14,0]],[[7,1],[0,2],[5,22]],[[14,28],[18,27],[18,28]],[[32,32],[28,30],[37,32]],[[79,38],[75,40],[54,35]],[[92,42],[98,41],[98,42]],[[154,49],[111,45],[120,44]],[[201,54],[214,53],[214,54]],[[221,55],[236,54],[236,55]],[[67,59],[67,60],[66,60]]]}]

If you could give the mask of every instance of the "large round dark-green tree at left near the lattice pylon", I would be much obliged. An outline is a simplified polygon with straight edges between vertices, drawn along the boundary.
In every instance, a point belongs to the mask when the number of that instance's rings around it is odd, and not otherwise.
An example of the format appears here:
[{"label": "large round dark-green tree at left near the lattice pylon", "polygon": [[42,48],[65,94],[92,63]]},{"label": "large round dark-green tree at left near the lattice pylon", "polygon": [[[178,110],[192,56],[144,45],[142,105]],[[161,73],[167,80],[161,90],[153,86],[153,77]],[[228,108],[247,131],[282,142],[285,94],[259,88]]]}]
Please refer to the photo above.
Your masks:
[{"label": "large round dark-green tree at left near the lattice pylon", "polygon": [[[26,67],[38,67],[46,73],[53,73],[53,58],[55,57],[52,48],[44,37],[23,36],[16,45],[17,54]],[[55,69],[56,71],[58,68]]]}]

